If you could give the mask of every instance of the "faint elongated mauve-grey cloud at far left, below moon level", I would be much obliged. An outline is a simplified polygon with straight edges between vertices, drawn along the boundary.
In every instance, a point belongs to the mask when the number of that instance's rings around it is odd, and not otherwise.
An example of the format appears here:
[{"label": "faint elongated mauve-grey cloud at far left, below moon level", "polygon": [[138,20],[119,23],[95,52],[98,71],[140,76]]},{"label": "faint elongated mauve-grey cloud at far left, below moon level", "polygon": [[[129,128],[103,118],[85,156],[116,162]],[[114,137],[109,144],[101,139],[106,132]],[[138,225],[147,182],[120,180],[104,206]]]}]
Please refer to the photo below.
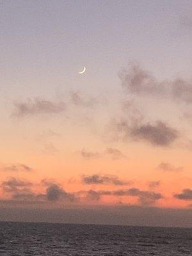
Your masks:
[{"label": "faint elongated mauve-grey cloud at far left, below moon level", "polygon": [[65,111],[64,102],[52,102],[35,98],[28,99],[26,102],[15,102],[14,116],[38,115],[38,114],[56,114]]}]

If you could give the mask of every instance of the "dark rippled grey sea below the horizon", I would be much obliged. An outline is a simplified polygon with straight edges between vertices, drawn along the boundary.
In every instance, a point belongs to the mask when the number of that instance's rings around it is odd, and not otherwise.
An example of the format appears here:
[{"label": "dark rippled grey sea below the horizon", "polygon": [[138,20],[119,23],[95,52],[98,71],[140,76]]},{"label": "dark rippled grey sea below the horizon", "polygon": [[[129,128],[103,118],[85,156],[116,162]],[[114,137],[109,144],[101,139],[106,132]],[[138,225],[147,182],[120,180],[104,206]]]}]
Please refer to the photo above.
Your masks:
[{"label": "dark rippled grey sea below the horizon", "polygon": [[192,255],[192,229],[0,222],[0,255]]}]

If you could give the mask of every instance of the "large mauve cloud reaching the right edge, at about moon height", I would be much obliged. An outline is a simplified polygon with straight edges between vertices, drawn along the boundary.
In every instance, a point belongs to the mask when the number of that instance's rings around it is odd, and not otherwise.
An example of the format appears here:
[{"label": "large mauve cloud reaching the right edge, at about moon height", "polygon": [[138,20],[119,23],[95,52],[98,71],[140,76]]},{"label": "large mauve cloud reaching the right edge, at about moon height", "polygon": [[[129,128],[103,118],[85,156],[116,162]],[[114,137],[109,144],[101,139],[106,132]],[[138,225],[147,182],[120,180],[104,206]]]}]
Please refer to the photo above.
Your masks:
[{"label": "large mauve cloud reaching the right edge, at about moon height", "polygon": [[122,86],[127,92],[151,97],[169,97],[173,100],[192,103],[192,84],[178,77],[173,81],[157,81],[156,77],[132,64],[120,73]]}]

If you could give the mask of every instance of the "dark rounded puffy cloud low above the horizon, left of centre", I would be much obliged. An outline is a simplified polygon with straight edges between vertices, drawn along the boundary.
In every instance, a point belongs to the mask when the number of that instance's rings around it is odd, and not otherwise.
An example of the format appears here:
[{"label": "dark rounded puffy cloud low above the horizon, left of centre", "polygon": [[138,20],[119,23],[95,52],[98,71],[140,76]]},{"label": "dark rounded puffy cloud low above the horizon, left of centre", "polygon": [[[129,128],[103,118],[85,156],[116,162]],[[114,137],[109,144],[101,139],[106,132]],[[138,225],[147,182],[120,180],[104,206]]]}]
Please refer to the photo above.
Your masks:
[{"label": "dark rounded puffy cloud low above the horizon, left of centre", "polygon": [[58,200],[68,200],[70,202],[75,200],[75,196],[71,193],[67,193],[58,184],[51,184],[46,189],[46,196],[48,201],[56,202]]}]

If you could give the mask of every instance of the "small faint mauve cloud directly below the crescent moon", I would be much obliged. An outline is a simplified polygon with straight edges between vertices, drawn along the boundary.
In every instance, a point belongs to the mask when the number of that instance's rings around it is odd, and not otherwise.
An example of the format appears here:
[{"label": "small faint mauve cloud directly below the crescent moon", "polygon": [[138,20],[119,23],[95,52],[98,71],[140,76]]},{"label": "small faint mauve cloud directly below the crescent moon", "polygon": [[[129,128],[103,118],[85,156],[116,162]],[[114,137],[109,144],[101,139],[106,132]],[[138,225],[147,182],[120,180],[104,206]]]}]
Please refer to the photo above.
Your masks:
[{"label": "small faint mauve cloud directly below the crescent moon", "polygon": [[71,101],[76,106],[82,106],[84,108],[93,108],[95,104],[97,104],[97,100],[95,98],[83,99],[80,92],[72,92],[70,94]]}]

